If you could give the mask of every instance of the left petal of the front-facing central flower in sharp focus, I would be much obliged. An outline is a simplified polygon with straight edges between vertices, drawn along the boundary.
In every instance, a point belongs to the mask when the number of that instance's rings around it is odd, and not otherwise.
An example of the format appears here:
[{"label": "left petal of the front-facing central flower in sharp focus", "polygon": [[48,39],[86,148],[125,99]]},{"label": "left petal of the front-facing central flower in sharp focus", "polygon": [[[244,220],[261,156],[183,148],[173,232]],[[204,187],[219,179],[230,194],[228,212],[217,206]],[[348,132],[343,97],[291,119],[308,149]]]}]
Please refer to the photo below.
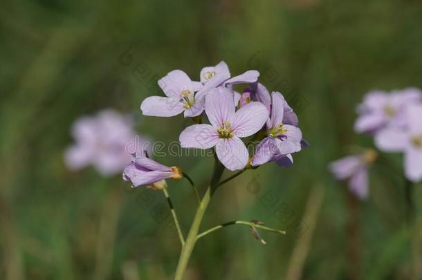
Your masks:
[{"label": "left petal of the front-facing central flower in sharp focus", "polygon": [[182,131],[179,141],[183,148],[209,149],[217,144],[219,133],[210,124],[194,124]]}]

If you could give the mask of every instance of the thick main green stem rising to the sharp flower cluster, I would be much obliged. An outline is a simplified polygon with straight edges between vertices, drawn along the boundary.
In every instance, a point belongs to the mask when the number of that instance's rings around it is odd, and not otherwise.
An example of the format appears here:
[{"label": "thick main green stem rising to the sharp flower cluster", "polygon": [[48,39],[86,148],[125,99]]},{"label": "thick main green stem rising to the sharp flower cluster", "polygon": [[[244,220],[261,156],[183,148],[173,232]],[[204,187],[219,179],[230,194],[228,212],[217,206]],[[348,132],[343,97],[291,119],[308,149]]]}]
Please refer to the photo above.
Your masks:
[{"label": "thick main green stem rising to the sharp flower cluster", "polygon": [[192,251],[194,250],[196,236],[198,236],[199,227],[201,226],[203,215],[205,214],[205,210],[210,204],[212,194],[214,194],[215,190],[217,189],[221,175],[223,175],[223,171],[223,165],[221,165],[219,160],[216,160],[214,163],[214,172],[212,174],[210,187],[208,187],[207,192],[205,192],[201,203],[199,203],[199,207],[196,210],[194,221],[190,226],[189,234],[187,234],[186,243],[183,246],[181,256],[178,259],[174,280],[183,279],[183,275],[185,274],[185,270],[187,268],[187,263],[189,263],[190,256],[192,254]]}]

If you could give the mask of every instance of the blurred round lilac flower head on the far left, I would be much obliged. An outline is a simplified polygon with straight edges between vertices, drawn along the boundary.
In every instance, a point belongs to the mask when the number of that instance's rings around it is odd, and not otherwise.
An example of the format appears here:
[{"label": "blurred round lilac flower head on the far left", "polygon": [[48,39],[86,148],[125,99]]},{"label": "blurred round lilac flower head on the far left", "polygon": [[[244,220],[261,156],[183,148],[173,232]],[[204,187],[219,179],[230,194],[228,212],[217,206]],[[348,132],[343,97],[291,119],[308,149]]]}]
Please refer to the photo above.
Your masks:
[{"label": "blurred round lilac flower head on the far left", "polygon": [[66,166],[77,170],[93,165],[104,176],[121,172],[130,153],[149,149],[149,142],[135,135],[131,120],[109,109],[77,120],[72,135],[75,144],[66,150]]}]

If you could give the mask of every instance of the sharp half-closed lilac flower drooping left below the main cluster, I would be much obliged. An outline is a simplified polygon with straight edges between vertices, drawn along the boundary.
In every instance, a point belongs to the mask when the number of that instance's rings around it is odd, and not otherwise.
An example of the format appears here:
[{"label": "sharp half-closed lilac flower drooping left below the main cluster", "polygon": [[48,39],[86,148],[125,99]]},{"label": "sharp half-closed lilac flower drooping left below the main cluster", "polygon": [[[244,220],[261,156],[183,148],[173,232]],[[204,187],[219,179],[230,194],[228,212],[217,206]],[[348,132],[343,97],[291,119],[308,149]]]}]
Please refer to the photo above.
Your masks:
[{"label": "sharp half-closed lilac flower drooping left below the main cluster", "polygon": [[130,181],[131,187],[152,185],[159,189],[165,179],[181,179],[183,173],[179,167],[167,167],[147,158],[143,155],[134,154],[130,165],[123,171],[123,180]]}]

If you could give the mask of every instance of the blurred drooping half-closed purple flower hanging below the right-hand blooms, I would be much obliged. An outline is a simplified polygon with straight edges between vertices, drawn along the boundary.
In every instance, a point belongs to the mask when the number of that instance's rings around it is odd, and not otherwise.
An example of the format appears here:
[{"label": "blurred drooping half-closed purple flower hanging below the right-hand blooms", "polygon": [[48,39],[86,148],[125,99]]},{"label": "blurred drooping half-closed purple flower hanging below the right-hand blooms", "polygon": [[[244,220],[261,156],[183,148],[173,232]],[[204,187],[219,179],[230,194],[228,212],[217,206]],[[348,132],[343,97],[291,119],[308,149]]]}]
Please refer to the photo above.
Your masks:
[{"label": "blurred drooping half-closed purple flower hanging below the right-hand blooms", "polygon": [[367,150],[331,162],[329,169],[338,180],[349,180],[349,190],[360,199],[368,196],[368,167],[376,160],[376,152]]}]

